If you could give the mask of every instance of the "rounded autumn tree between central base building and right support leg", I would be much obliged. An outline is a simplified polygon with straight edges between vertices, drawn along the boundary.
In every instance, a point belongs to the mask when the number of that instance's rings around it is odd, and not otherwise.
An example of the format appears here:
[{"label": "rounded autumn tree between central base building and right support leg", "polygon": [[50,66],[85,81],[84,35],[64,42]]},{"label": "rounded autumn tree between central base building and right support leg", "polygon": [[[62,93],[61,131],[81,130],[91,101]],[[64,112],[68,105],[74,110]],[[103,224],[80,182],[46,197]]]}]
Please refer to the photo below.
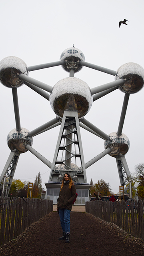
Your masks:
[{"label": "rounded autumn tree between central base building and right support leg", "polygon": [[98,180],[98,182],[94,184],[94,189],[96,192],[100,192],[101,196],[108,196],[112,194],[110,184],[106,183],[103,179]]}]

